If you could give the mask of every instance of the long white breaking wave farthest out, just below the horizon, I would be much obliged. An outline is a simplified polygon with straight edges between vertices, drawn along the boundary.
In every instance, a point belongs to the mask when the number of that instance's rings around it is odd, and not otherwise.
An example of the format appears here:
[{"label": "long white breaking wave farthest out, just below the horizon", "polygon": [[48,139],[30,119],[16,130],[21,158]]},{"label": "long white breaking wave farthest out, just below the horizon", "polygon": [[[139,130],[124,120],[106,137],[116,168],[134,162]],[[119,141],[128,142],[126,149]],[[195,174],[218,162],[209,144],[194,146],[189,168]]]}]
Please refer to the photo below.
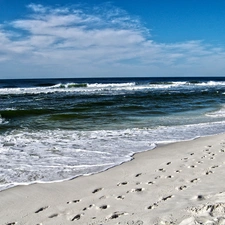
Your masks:
[{"label": "long white breaking wave farthest out, just below the horizon", "polygon": [[125,82],[125,83],[58,83],[39,87],[0,88],[0,95],[40,94],[54,92],[101,93],[116,91],[167,90],[173,88],[225,87],[223,81],[171,81],[171,82]]}]

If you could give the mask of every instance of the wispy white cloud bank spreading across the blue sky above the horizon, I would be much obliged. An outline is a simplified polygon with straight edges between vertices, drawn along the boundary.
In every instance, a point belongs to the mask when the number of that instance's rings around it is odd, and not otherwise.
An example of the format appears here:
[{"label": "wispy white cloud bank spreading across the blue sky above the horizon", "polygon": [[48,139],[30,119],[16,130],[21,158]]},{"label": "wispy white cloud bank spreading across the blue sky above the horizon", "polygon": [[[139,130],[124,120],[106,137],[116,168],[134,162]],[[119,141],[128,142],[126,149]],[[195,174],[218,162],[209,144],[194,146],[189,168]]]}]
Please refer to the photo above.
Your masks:
[{"label": "wispy white cloud bank spreading across the blue sky above the horizon", "polygon": [[112,5],[27,8],[0,24],[0,78],[225,75],[223,48],[157,43],[139,18]]}]

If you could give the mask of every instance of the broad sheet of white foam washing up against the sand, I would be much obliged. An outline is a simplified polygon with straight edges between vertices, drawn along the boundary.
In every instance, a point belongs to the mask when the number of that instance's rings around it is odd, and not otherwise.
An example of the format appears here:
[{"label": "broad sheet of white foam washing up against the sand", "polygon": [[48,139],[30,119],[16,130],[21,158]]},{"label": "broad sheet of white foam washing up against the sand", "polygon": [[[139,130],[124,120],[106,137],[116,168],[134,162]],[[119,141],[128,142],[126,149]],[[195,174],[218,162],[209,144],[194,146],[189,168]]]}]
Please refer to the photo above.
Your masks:
[{"label": "broad sheet of white foam washing up against the sand", "polygon": [[[96,173],[156,144],[224,132],[225,122],[126,130],[15,130],[0,135],[0,175],[6,187]],[[169,154],[169,153],[168,153]],[[1,187],[0,187],[1,188]]]}]

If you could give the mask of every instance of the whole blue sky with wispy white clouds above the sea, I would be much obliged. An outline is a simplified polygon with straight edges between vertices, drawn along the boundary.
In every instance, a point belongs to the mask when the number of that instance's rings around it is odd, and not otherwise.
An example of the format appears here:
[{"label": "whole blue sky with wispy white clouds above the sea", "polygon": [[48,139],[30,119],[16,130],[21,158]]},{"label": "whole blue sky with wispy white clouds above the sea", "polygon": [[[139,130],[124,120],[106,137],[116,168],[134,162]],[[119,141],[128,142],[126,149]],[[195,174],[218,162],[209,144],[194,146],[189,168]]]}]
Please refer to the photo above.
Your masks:
[{"label": "whole blue sky with wispy white clouds above the sea", "polygon": [[0,0],[0,79],[225,76],[224,0]]}]

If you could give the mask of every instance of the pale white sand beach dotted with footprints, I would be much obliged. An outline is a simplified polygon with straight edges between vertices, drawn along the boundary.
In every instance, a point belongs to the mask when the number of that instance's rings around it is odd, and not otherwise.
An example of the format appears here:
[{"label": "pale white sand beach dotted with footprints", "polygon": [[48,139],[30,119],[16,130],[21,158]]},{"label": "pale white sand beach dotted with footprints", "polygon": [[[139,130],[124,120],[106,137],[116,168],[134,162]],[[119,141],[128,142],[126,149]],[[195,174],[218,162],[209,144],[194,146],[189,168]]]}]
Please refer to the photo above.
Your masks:
[{"label": "pale white sand beach dotted with footprints", "polygon": [[225,224],[225,134],[134,155],[91,176],[0,192],[0,224]]}]

